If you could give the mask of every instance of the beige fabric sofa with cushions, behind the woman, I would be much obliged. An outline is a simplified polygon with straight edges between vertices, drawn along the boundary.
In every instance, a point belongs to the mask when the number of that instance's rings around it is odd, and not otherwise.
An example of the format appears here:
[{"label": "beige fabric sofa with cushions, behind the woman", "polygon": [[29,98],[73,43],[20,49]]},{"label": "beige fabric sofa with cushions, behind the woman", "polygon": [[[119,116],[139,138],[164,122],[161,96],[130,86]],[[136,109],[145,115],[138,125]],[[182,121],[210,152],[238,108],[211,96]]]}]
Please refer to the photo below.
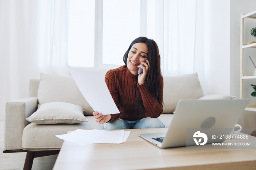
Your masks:
[{"label": "beige fabric sofa with cushions, behind the woman", "polygon": [[[59,152],[63,140],[55,135],[76,129],[102,130],[104,126],[95,122],[93,109],[71,76],[40,76],[40,80],[30,81],[29,97],[9,101],[5,107],[4,153],[27,152],[24,169],[31,169],[34,157]],[[178,100],[200,97],[203,90],[197,73],[164,77],[159,119],[169,127]],[[74,108],[69,109],[69,104]]]}]

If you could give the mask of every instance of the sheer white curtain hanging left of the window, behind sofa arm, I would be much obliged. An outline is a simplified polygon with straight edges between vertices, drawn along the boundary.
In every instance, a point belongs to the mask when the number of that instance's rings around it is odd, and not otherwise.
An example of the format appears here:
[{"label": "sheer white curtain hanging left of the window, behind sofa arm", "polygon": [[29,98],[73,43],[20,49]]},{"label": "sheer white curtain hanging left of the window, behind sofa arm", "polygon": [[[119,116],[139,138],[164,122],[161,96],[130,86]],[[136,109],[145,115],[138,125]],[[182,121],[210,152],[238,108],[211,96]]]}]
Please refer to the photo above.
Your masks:
[{"label": "sheer white curtain hanging left of the window, behind sofa arm", "polygon": [[67,75],[68,0],[0,0],[0,121],[41,72]]}]

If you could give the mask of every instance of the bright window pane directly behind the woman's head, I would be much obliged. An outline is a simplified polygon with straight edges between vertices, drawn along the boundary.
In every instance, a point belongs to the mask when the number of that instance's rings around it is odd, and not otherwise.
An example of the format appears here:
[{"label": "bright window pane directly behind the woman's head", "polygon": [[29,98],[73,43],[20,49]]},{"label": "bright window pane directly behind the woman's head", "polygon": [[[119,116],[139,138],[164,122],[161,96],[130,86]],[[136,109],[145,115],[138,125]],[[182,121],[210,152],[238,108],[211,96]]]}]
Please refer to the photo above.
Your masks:
[{"label": "bright window pane directly behind the woman's head", "polygon": [[124,65],[123,56],[130,43],[140,35],[139,0],[103,1],[102,62]]}]

